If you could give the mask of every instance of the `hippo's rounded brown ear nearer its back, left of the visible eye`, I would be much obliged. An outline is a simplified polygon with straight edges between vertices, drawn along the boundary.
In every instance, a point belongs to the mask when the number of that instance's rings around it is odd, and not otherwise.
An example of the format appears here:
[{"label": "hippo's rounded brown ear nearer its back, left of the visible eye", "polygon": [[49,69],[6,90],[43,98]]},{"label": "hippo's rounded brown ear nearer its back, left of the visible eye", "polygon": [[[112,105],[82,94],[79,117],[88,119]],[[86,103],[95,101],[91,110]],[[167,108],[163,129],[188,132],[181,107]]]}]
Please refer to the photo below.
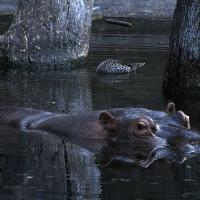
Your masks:
[{"label": "hippo's rounded brown ear nearer its back, left of the visible eye", "polygon": [[117,129],[116,118],[113,117],[109,112],[101,112],[99,114],[99,123],[104,129],[110,131],[116,131]]}]

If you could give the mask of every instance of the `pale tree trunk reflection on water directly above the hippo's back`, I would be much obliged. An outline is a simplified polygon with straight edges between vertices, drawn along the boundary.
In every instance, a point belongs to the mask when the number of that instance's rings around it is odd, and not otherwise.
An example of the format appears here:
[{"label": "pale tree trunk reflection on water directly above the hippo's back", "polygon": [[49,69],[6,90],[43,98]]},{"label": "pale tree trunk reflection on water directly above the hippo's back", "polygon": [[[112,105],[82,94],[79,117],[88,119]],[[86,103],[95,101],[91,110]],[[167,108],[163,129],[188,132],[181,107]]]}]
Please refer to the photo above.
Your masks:
[{"label": "pale tree trunk reflection on water directly above the hippo's back", "polygon": [[20,72],[1,77],[0,105],[36,107],[59,112],[91,110],[88,72]]}]

